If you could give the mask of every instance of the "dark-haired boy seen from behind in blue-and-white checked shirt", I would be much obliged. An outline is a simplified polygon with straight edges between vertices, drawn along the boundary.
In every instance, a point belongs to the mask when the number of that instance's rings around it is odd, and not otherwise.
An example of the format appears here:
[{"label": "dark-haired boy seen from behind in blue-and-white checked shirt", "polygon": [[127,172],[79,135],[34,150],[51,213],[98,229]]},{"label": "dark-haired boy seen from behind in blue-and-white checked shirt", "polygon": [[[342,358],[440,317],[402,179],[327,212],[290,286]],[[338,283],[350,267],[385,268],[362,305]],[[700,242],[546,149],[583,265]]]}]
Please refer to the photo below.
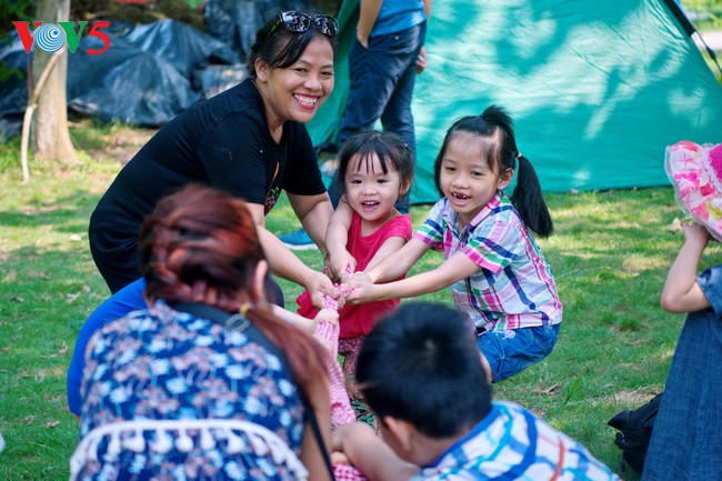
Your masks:
[{"label": "dark-haired boy seen from behind in blue-and-white checked shirt", "polygon": [[[367,337],[357,377],[383,441],[364,423],[333,433],[333,457],[378,481],[619,480],[524,408],[492,402],[461,312],[411,302]],[[385,441],[385,443],[384,443]]]}]

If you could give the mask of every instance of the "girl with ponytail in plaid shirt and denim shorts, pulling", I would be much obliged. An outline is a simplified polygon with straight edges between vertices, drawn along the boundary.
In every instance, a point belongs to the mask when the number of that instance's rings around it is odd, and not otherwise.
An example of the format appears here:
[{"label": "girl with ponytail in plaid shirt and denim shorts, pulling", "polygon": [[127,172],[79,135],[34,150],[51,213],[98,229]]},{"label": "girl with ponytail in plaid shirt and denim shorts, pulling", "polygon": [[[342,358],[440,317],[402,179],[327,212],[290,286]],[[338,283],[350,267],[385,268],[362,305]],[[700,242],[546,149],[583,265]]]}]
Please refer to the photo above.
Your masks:
[{"label": "girl with ponytail in plaid shirt and denim shorts, pulling", "polygon": [[[518,171],[511,198],[503,189]],[[412,298],[451,287],[478,334],[489,379],[500,381],[546,357],[556,343],[562,304],[551,269],[530,231],[553,223],[534,169],[518,148],[511,118],[491,106],[448,130],[434,163],[443,196],[414,237],[347,283],[352,303]],[[445,261],[405,273],[429,249]]]}]

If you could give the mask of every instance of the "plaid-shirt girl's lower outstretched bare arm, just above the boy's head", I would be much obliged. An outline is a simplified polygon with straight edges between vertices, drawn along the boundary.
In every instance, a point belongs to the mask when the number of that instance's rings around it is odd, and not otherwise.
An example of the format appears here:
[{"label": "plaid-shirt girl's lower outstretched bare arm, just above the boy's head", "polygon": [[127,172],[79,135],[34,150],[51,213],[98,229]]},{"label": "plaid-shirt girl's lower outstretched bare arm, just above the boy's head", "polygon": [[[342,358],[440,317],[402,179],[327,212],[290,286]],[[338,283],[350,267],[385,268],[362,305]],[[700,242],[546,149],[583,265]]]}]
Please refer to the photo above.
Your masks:
[{"label": "plaid-shirt girl's lower outstretched bare arm, just above the boy's head", "polygon": [[[412,239],[409,242],[413,242]],[[418,241],[421,242],[421,241]],[[422,242],[423,243],[423,242]],[[408,244],[407,244],[408,245]],[[388,257],[390,259],[392,255]],[[384,260],[385,262],[385,260]],[[350,282],[352,292],[347,301],[358,304],[370,301],[388,299],[413,298],[417,295],[437,292],[469,275],[479,272],[480,267],[462,252],[457,252],[441,265],[431,271],[422,272],[407,279],[385,284],[370,284],[368,282]]]}]

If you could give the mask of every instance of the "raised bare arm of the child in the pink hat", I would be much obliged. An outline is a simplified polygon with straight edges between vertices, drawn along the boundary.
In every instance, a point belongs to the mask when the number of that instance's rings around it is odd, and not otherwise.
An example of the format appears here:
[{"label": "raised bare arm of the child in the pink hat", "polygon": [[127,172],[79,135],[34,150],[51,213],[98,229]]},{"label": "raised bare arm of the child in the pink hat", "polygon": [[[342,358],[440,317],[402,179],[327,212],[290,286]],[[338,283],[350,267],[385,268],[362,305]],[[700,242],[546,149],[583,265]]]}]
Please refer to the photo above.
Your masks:
[{"label": "raised bare arm of the child in the pink hat", "polygon": [[710,241],[708,230],[693,223],[684,226],[684,244],[670,268],[662,290],[662,309],[669,312],[694,312],[710,307],[696,283],[702,252]]}]

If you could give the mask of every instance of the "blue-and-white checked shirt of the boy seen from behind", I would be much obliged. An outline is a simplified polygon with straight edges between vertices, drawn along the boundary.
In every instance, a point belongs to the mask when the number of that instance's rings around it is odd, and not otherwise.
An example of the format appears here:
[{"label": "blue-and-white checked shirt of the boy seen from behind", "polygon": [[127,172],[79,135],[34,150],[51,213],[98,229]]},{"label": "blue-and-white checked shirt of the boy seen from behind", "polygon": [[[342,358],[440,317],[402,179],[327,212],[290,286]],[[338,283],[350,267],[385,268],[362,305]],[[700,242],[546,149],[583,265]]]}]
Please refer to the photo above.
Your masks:
[{"label": "blue-and-white checked shirt of the boy seen from behind", "polygon": [[491,412],[410,481],[619,481],[579,442],[524,408]]}]

